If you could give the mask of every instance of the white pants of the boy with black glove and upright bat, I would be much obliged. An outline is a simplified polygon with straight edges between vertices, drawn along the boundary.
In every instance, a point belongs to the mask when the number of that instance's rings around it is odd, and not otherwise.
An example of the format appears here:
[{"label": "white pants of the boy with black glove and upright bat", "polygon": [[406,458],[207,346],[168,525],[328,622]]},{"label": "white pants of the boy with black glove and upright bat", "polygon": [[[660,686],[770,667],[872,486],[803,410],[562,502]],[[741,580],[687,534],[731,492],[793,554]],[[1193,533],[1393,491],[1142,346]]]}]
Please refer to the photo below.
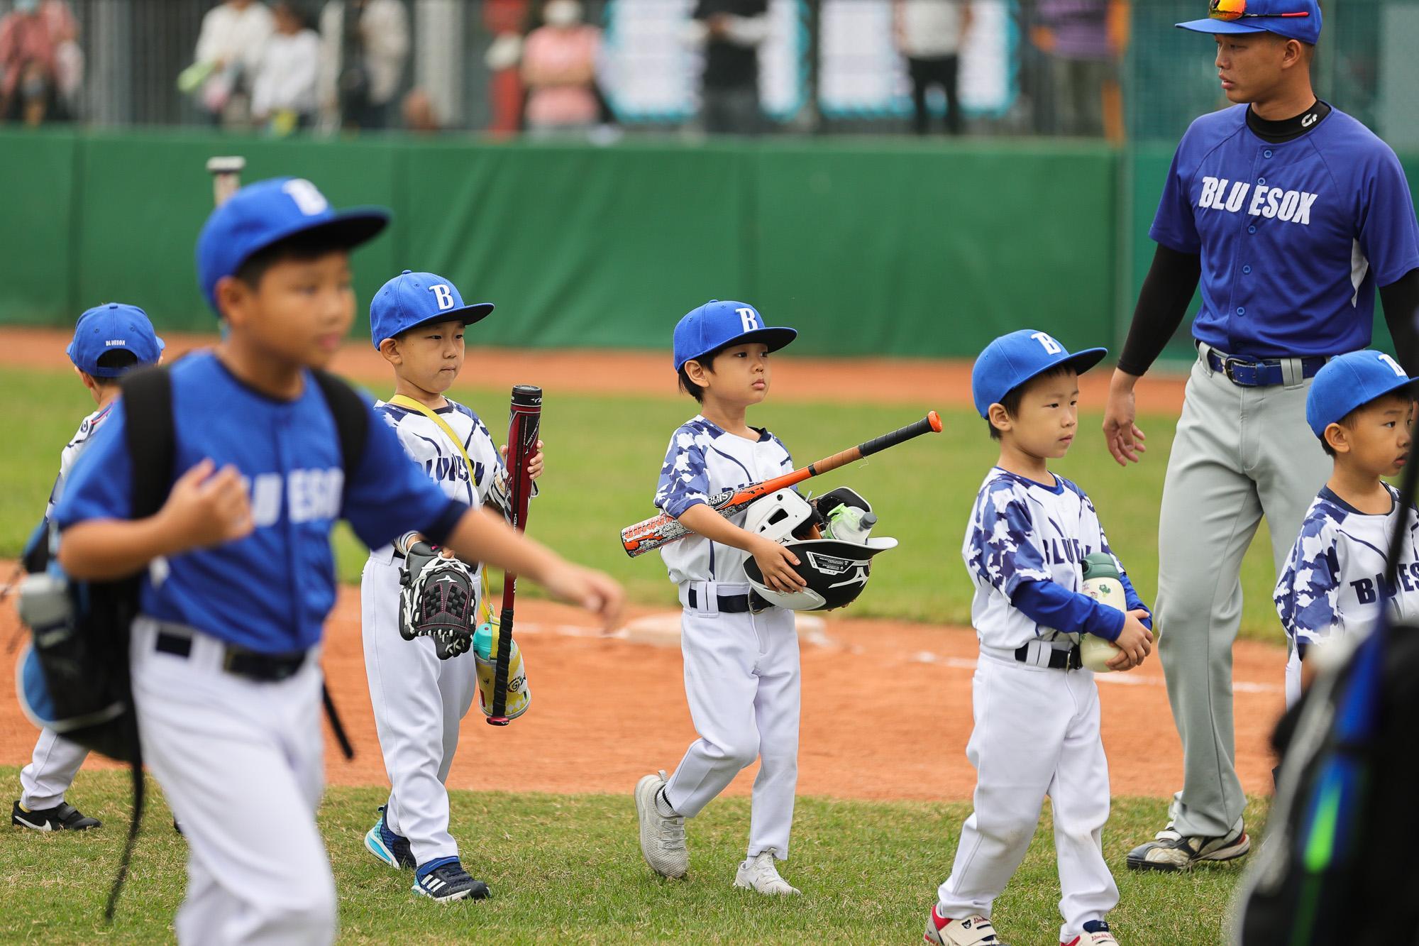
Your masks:
[{"label": "white pants of the boy with black glove and upright bat", "polygon": [[457,857],[444,780],[478,692],[473,651],[440,660],[433,639],[400,636],[394,562],[366,561],[359,597],[369,700],[390,784],[385,821],[409,838],[420,864]]}]

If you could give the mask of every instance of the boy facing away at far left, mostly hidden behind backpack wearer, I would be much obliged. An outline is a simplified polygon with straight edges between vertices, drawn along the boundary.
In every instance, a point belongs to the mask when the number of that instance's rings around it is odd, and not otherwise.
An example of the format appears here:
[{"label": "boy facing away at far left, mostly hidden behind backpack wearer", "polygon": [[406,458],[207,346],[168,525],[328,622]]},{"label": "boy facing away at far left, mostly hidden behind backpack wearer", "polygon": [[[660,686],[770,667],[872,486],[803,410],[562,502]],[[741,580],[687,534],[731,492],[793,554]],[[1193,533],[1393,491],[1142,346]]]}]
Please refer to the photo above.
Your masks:
[{"label": "boy facing away at far left, mostly hidden behind backpack wearer", "polygon": [[[65,351],[74,362],[74,374],[84,382],[98,409],[84,418],[74,439],[60,455],[60,474],[44,509],[44,524],[35,533],[38,541],[47,541],[47,526],[74,460],[108,419],[118,398],[119,379],[139,365],[156,365],[163,354],[163,339],[153,331],[148,312],[136,305],[108,303],[79,315],[74,341]],[[64,793],[74,784],[74,776],[85,757],[88,750],[82,746],[48,729],[41,730],[34,744],[34,757],[20,770],[20,800],[10,811],[10,824],[35,831],[84,831],[101,827],[98,818],[84,815],[64,800]]]}]

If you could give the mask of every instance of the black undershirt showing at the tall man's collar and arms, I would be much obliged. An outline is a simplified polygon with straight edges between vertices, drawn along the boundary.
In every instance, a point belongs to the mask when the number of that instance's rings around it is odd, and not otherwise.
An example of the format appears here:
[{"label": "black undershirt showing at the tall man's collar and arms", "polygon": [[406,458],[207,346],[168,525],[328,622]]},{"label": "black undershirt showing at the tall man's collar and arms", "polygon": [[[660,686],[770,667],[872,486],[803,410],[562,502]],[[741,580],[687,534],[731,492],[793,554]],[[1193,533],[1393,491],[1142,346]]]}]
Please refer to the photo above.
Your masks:
[{"label": "black undershirt showing at the tall man's collar and arms", "polygon": [[[1331,107],[1317,99],[1300,115],[1279,122],[1246,111],[1246,125],[1253,135],[1264,142],[1279,145],[1294,141],[1320,125],[1331,114]],[[1159,246],[1154,253],[1152,266],[1138,293],[1134,307],[1134,321],[1128,327],[1128,339],[1118,355],[1118,369],[1130,375],[1142,375],[1162,354],[1168,339],[1174,337],[1182,320],[1188,315],[1188,304],[1198,291],[1202,278],[1202,257],[1196,253],[1179,253]],[[1389,286],[1379,287],[1379,301],[1385,308],[1385,322],[1395,339],[1395,354],[1399,364],[1410,375],[1419,372],[1419,270],[1410,270]],[[1232,352],[1246,354],[1246,352]]]}]

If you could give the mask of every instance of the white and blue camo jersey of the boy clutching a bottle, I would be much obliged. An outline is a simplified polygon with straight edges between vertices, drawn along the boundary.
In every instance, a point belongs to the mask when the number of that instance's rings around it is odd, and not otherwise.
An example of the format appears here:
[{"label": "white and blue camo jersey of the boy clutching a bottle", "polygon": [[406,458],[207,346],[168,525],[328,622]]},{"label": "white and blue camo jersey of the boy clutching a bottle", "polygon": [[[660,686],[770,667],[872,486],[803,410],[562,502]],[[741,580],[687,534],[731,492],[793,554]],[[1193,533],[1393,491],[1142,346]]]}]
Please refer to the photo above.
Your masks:
[{"label": "white and blue camo jersey of the boy clutching a bottle", "polygon": [[976,587],[971,624],[982,646],[1015,651],[1037,636],[1078,641],[1078,634],[1040,626],[1010,604],[1022,581],[1083,591],[1084,555],[1114,554],[1084,490],[1054,479],[1051,489],[993,467],[981,484],[961,557]]}]

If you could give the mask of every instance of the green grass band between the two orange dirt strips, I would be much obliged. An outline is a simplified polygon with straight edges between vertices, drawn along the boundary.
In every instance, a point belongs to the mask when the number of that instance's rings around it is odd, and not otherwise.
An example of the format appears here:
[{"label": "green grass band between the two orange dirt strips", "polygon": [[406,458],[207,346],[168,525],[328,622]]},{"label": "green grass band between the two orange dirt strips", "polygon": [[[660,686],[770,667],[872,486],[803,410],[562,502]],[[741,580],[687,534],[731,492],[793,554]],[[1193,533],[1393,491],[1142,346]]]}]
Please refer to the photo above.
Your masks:
[{"label": "green grass band between the two orange dirt strips", "polygon": [[[470,366],[468,374],[473,374]],[[455,388],[460,401],[491,419],[494,435],[507,411],[505,391]],[[92,402],[70,372],[7,369],[0,376],[7,411],[0,419],[0,555],[14,555],[38,521],[58,469],[60,450]],[[843,406],[775,403],[751,415],[768,425],[793,456],[806,463],[847,445],[915,420],[931,405]],[[548,472],[534,503],[531,534],[626,582],[631,598],[674,604],[658,555],[629,560],[620,527],[653,514],[660,462],[670,433],[694,413],[688,398],[558,396],[551,389],[542,415]],[[809,482],[815,491],[849,484],[881,516],[878,531],[902,548],[883,555],[868,591],[853,607],[857,616],[969,624],[971,582],[961,562],[966,516],[985,472],[996,459],[985,423],[969,411],[942,413],[946,429],[857,467]],[[1086,412],[1080,442],[1056,469],[1080,483],[1098,506],[1114,550],[1145,601],[1158,577],[1158,501],[1175,418],[1142,418],[1149,453],[1120,469],[1105,453],[1100,418]],[[363,551],[346,533],[336,537],[341,577],[359,581]],[[1270,591],[1273,570],[1264,526],[1242,572],[1246,591],[1244,636],[1283,641]],[[536,594],[531,587],[529,594]]]}]

